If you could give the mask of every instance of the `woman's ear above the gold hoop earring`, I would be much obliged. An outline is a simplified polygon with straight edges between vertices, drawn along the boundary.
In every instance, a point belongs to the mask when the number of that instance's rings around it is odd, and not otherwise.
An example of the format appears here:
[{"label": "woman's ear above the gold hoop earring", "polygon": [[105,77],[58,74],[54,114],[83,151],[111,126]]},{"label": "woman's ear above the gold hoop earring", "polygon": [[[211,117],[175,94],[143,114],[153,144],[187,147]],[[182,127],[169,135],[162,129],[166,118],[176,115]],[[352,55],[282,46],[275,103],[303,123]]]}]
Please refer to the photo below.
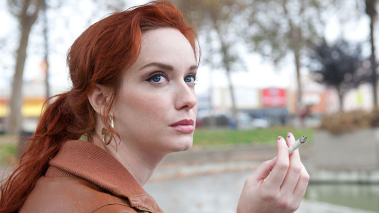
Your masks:
[{"label": "woman's ear above the gold hoop earring", "polygon": [[92,108],[99,114],[103,114],[104,103],[110,98],[109,88],[96,84],[95,88],[88,94],[88,101],[91,104]]}]

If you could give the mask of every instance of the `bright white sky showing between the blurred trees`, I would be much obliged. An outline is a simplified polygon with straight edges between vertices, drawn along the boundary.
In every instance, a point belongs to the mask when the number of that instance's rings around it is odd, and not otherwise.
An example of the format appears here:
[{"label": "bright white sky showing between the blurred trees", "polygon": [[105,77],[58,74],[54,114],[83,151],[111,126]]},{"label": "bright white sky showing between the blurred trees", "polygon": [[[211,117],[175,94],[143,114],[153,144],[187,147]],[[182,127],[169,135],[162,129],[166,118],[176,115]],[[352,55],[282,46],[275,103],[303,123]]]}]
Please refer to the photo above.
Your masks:
[{"label": "bright white sky showing between the blurred trees", "polygon": [[[60,16],[56,12],[48,13],[48,17],[54,20],[50,23],[51,30],[49,32],[50,39],[50,73],[51,77],[49,82],[51,87],[55,88],[54,91],[63,92],[69,89],[68,68],[66,66],[66,54],[70,45],[91,23],[103,18],[108,14],[105,11],[97,11],[92,0],[78,1],[76,10],[72,7],[64,6],[59,11],[64,13],[65,16]],[[147,2],[147,0],[134,0],[133,4],[128,6],[138,5]],[[126,9],[126,8],[125,8]],[[78,15],[80,14],[80,15]],[[65,19],[68,17],[70,19]],[[88,19],[83,17],[93,18]],[[0,57],[3,62],[0,66],[0,75],[4,76],[0,79],[0,89],[10,89],[10,80],[13,75],[14,66],[14,53],[12,49],[17,48],[17,22],[15,18],[9,15],[7,11],[6,1],[0,1],[0,20],[1,31],[0,38],[8,38],[6,48],[1,50]],[[69,30],[67,30],[69,26]],[[41,33],[41,24],[36,24],[33,28],[29,47],[28,58],[26,60],[24,79],[26,81],[43,81],[44,75],[40,68],[40,63],[43,58],[38,45],[43,45]],[[363,16],[358,18],[355,22],[351,22],[346,26],[341,26],[337,18],[331,16],[327,21],[326,28],[327,40],[332,41],[338,38],[341,34],[349,40],[363,41],[368,38],[368,19]],[[341,33],[342,32],[342,33]],[[10,36],[13,35],[13,36]],[[200,37],[200,44],[202,40]],[[245,65],[247,71],[235,72],[232,75],[232,80],[237,87],[249,88],[291,88],[296,82],[295,69],[293,66],[293,59],[287,58],[279,67],[274,67],[270,61],[262,59],[257,54],[247,53],[246,50],[241,49],[244,55]],[[206,53],[204,53],[206,54]],[[303,69],[303,72],[307,72]],[[227,87],[227,79],[224,71],[214,70],[210,72],[210,68],[206,64],[201,64],[198,70],[196,90],[198,93],[207,93],[210,85],[213,87]],[[6,93],[6,91],[5,91]],[[1,95],[1,93],[0,93]]]}]

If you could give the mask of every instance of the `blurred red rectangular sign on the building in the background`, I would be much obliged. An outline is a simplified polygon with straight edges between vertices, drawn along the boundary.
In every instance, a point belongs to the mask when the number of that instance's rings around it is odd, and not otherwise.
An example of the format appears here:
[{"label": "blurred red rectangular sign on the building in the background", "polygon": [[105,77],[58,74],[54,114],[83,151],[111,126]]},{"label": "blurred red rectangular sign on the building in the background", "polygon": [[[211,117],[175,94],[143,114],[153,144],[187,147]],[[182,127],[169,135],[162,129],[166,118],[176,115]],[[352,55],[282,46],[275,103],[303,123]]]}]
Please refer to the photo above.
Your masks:
[{"label": "blurred red rectangular sign on the building in the background", "polygon": [[262,105],[265,107],[286,106],[286,90],[279,88],[262,89]]}]

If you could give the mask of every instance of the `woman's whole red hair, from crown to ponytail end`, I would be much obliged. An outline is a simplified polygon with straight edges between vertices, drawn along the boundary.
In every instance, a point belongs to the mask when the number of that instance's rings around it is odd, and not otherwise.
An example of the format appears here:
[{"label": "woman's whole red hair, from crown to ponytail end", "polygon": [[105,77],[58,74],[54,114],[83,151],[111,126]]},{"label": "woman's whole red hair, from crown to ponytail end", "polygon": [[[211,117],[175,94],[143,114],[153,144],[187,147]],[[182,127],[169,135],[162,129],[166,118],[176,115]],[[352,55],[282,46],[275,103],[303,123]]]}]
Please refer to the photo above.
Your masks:
[{"label": "woman's whole red hair, from crown to ponytail end", "polygon": [[0,212],[17,212],[22,207],[63,142],[77,140],[83,135],[92,141],[96,112],[87,96],[96,84],[113,91],[110,103],[106,103],[108,111],[102,116],[103,123],[112,130],[105,118],[117,96],[125,69],[138,57],[141,34],[162,27],[179,30],[188,39],[195,56],[200,55],[194,29],[169,1],[154,1],[113,13],[90,26],[75,40],[67,56],[72,89],[52,97],[55,98],[52,104],[45,103],[46,109],[28,150],[22,155],[17,169],[1,185]]}]

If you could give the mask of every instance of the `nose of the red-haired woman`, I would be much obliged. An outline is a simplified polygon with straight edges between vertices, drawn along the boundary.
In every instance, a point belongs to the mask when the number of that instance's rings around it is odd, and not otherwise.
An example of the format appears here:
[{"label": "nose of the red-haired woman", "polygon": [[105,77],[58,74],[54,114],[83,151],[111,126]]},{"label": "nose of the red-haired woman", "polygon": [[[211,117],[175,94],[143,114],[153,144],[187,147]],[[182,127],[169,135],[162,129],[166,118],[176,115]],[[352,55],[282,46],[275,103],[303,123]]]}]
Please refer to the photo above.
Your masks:
[{"label": "nose of the red-haired woman", "polygon": [[176,89],[175,108],[177,110],[192,109],[197,105],[197,96],[195,90],[190,88],[186,83],[180,84]]}]

